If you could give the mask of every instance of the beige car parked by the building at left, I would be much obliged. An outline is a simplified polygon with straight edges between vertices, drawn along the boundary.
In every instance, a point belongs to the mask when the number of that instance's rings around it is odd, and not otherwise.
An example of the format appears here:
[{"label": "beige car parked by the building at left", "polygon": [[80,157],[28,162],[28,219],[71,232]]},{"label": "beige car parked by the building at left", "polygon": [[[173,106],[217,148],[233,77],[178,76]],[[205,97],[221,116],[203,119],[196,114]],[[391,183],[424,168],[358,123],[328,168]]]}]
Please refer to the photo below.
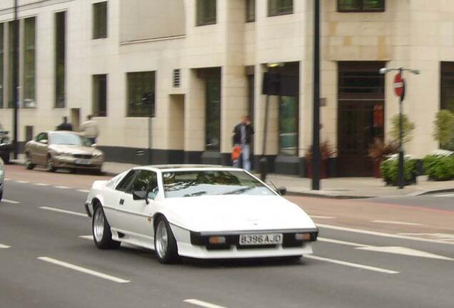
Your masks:
[{"label": "beige car parked by the building at left", "polygon": [[101,173],[104,153],[79,133],[58,130],[36,135],[25,145],[26,168],[43,165],[54,172],[58,168],[84,169]]}]

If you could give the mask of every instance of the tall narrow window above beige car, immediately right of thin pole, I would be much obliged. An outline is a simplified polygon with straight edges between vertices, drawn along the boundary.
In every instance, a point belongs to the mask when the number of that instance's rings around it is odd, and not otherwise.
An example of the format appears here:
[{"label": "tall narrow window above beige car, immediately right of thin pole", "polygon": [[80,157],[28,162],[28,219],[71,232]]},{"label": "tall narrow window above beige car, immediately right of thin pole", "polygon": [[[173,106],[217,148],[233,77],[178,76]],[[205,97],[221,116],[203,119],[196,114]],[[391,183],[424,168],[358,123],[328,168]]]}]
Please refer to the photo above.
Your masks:
[{"label": "tall narrow window above beige car, immediately right of thin pole", "polygon": [[24,21],[24,108],[36,108],[36,19]]}]

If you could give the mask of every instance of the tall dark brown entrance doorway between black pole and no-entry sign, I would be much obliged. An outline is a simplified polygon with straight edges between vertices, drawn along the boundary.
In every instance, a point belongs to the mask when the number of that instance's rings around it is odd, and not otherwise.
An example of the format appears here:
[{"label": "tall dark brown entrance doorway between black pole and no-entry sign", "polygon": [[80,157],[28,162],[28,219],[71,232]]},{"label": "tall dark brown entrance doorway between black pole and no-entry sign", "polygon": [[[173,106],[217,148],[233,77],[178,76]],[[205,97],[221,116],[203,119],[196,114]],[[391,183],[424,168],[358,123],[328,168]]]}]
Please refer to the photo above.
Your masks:
[{"label": "tall dark brown entrance doorway between black pole and no-entry sign", "polygon": [[384,137],[382,62],[340,62],[338,76],[338,175],[372,176],[368,148]]}]

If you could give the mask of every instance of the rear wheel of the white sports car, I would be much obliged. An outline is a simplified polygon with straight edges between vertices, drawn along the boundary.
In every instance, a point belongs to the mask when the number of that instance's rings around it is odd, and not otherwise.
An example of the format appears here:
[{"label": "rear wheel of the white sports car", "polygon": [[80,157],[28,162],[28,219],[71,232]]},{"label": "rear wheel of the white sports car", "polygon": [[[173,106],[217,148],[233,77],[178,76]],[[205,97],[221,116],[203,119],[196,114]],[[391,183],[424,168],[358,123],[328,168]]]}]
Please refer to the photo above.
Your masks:
[{"label": "rear wheel of the white sports car", "polygon": [[91,232],[93,233],[96,247],[101,250],[117,248],[121,244],[112,240],[111,226],[107,222],[101,206],[97,206],[94,210],[93,220],[91,220]]}]

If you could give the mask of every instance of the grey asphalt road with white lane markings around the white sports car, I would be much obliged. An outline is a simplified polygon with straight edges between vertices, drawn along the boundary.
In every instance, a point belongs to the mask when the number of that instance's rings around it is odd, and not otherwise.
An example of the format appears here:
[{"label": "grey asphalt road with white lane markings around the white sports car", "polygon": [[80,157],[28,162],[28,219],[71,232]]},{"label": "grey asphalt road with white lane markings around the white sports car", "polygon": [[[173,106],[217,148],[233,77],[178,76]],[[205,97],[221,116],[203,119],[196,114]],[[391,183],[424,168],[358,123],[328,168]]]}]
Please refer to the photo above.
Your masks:
[{"label": "grey asphalt road with white lane markings around the white sports car", "polygon": [[[392,232],[318,216],[314,219],[323,227],[314,257],[298,262],[183,260],[161,265],[153,252],[133,246],[98,250],[89,238],[91,221],[84,217],[86,191],[79,185],[84,175],[67,176],[75,180],[46,184],[55,175],[42,173],[39,182],[26,175],[6,181],[6,200],[0,203],[0,307],[454,307],[454,240],[448,236],[454,232],[446,233],[451,230],[430,240],[418,232],[403,235],[406,227],[421,227],[405,225],[408,216],[398,217],[402,230]],[[434,204],[454,204],[454,197],[430,198]],[[415,211],[426,209],[415,200],[405,203]],[[373,200],[380,201],[392,203]],[[452,207],[433,210],[454,222]],[[378,225],[391,220],[383,221]],[[423,252],[431,255],[421,256]]]}]

